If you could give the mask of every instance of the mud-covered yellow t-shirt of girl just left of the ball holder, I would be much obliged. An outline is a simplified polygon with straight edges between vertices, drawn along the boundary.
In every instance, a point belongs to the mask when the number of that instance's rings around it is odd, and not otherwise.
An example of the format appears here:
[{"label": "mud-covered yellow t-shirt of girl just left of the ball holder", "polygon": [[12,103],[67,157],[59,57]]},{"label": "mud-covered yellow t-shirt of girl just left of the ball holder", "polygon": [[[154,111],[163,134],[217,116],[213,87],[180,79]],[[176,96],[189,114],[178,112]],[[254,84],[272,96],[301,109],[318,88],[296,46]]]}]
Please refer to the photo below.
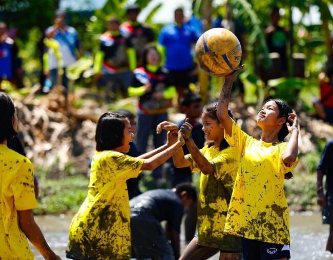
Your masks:
[{"label": "mud-covered yellow t-shirt of girl just left of the ball holder", "polygon": [[[213,164],[215,176],[201,173],[198,197],[198,244],[227,251],[241,251],[240,238],[223,233],[225,217],[233,192],[238,169],[238,159],[231,147],[223,150],[214,146],[203,147],[201,153]],[[192,172],[198,166],[191,154]]]}]

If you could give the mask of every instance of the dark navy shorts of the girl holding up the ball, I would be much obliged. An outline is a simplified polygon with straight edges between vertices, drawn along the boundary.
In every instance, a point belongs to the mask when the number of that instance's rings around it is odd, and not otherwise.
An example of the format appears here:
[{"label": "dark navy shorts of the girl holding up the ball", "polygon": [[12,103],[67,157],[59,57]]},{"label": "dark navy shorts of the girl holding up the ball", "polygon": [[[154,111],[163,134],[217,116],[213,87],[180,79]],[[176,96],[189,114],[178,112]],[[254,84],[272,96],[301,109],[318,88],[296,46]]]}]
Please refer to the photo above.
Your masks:
[{"label": "dark navy shorts of the girl holding up the ball", "polygon": [[290,247],[242,237],[243,260],[290,259]]}]

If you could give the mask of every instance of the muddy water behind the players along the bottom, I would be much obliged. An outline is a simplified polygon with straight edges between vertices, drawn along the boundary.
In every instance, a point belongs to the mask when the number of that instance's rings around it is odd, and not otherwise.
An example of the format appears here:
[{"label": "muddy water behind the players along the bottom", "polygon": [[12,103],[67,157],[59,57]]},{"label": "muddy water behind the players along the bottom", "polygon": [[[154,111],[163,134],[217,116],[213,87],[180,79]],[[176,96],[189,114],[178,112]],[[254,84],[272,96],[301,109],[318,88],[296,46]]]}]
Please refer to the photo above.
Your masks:
[{"label": "muddy water behind the players along the bottom", "polygon": [[[68,239],[68,228],[72,216],[43,216],[35,217],[51,248],[66,259],[65,249]],[[333,259],[325,253],[328,237],[328,226],[321,224],[319,213],[303,213],[290,215],[290,238],[292,240],[292,259],[295,260],[324,260]],[[182,249],[185,245],[182,243]],[[32,247],[33,248],[33,247]],[[34,249],[36,259],[43,259]],[[218,256],[211,258],[218,260]]]}]

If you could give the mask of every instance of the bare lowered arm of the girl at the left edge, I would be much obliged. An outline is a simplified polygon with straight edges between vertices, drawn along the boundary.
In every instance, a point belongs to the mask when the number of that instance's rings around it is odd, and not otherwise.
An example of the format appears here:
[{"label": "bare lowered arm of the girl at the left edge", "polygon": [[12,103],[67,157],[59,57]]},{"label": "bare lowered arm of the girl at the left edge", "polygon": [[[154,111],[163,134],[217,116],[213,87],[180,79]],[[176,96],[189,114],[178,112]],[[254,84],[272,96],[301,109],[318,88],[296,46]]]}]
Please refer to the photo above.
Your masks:
[{"label": "bare lowered arm of the girl at the left edge", "polygon": [[46,243],[43,233],[41,233],[38,225],[33,218],[32,210],[17,211],[18,223],[21,230],[28,237],[31,244],[43,255],[45,259],[61,259],[57,256]]}]

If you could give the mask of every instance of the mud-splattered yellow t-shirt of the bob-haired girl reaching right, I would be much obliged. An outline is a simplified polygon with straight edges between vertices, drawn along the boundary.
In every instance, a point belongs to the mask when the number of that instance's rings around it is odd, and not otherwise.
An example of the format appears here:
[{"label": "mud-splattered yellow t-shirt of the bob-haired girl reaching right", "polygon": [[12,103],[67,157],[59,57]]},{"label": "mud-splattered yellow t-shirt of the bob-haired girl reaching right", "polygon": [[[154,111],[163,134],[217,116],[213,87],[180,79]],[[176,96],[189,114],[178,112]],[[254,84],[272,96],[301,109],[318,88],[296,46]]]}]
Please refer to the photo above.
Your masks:
[{"label": "mud-splattered yellow t-shirt of the bob-haired girl reaching right", "polygon": [[96,152],[88,195],[70,226],[70,252],[97,259],[131,258],[126,180],[139,175],[142,163],[143,159],[116,151]]}]

